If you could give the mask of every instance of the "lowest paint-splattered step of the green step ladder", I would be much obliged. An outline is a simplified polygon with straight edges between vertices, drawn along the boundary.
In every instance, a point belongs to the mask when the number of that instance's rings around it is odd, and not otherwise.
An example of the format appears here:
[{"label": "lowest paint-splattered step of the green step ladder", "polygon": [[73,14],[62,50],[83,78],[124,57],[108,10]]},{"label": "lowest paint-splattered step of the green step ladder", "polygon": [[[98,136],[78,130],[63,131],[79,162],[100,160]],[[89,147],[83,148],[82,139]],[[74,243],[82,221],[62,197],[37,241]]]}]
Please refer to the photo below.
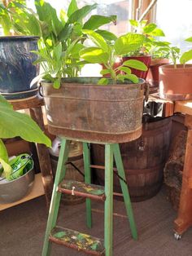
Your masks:
[{"label": "lowest paint-splattered step of the green step ladder", "polygon": [[55,227],[50,232],[50,241],[55,244],[84,251],[91,255],[105,255],[103,240],[74,230]]}]

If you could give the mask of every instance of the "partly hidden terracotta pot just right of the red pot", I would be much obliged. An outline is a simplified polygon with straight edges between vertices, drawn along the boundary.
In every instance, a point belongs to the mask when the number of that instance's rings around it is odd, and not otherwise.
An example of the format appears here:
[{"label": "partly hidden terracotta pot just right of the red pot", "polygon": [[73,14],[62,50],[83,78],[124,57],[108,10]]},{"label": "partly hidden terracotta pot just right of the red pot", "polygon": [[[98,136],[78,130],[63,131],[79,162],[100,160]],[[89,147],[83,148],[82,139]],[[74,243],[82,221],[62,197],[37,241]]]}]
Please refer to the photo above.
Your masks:
[{"label": "partly hidden terracotta pot just right of the red pot", "polygon": [[151,65],[146,77],[146,80],[151,83],[151,86],[159,86],[159,66],[168,63],[168,59],[151,59]]}]

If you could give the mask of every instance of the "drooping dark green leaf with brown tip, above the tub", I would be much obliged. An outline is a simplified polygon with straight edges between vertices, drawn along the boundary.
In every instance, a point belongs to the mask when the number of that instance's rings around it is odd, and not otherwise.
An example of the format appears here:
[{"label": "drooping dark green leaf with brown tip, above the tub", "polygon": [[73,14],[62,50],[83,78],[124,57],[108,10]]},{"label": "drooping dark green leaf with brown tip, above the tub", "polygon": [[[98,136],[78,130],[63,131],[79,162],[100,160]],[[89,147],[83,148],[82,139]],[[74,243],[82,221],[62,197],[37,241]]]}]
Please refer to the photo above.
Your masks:
[{"label": "drooping dark green leaf with brown tip, above the tub", "polygon": [[116,15],[111,16],[103,16],[103,15],[91,15],[89,20],[87,20],[84,24],[83,29],[98,29],[104,24],[108,24],[110,22],[116,23]]}]

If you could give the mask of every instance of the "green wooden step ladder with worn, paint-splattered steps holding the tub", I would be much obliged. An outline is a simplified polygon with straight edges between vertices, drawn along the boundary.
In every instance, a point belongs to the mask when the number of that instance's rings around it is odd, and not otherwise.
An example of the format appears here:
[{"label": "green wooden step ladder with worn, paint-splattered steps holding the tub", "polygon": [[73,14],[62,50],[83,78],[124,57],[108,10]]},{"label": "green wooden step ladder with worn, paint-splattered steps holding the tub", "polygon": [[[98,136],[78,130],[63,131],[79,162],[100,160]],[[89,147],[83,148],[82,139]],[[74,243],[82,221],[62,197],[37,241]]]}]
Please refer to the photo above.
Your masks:
[{"label": "green wooden step ladder with worn, paint-splattered steps holding the tub", "polygon": [[[73,139],[74,140],[74,139]],[[42,256],[50,255],[51,243],[65,245],[72,249],[84,251],[92,255],[112,256],[112,218],[113,218],[113,157],[116,161],[118,175],[121,177],[120,186],[124,196],[124,205],[129,217],[130,229],[133,239],[137,240],[137,228],[133,218],[133,210],[127,184],[124,183],[125,174],[120,147],[118,143],[105,144],[105,187],[91,184],[89,143],[83,142],[85,183],[74,180],[64,180],[66,162],[68,161],[70,139],[61,140],[59,161],[55,176],[50,212],[46,226],[46,236]],[[94,236],[89,236],[67,228],[57,227],[59,202],[62,193],[86,198],[87,227],[92,227],[91,200],[104,201],[104,241]]]}]

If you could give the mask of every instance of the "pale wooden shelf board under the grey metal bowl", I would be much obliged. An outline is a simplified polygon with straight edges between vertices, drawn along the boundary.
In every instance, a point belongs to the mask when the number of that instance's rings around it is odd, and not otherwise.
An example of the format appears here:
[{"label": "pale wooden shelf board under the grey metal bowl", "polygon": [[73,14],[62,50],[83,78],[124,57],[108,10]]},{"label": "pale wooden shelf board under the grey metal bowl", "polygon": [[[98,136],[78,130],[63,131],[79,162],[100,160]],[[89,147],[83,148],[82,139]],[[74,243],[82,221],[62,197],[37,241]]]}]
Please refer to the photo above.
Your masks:
[{"label": "pale wooden shelf board under the grey metal bowl", "polygon": [[33,198],[36,198],[42,195],[45,195],[45,192],[44,192],[44,188],[41,180],[41,174],[36,174],[32,191],[27,196],[22,198],[20,201],[15,201],[14,203],[10,203],[10,204],[0,204],[0,211],[15,205],[20,205],[25,201],[32,200]]}]

